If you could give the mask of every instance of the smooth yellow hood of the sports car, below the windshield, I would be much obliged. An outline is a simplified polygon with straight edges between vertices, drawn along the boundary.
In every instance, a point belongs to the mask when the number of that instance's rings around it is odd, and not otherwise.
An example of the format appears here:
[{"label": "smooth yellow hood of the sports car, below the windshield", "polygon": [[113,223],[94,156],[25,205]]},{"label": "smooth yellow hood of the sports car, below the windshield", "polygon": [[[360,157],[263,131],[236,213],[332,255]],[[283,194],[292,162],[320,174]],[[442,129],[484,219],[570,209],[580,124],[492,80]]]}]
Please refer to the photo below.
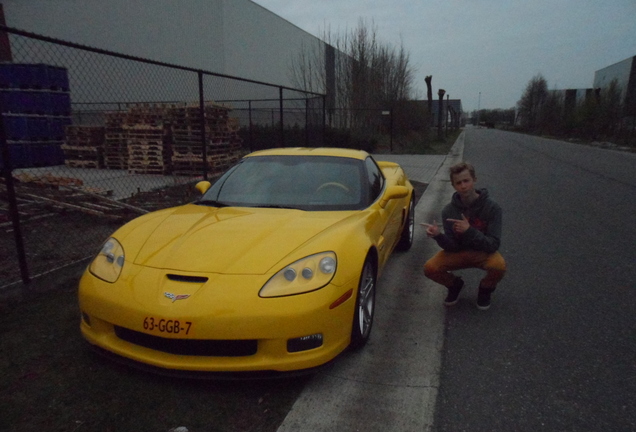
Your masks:
[{"label": "smooth yellow hood of the sports car, below the windshield", "polygon": [[351,214],[186,205],[164,213],[163,218],[149,218],[128,237],[136,237],[142,244],[134,257],[137,265],[184,272],[265,274]]}]

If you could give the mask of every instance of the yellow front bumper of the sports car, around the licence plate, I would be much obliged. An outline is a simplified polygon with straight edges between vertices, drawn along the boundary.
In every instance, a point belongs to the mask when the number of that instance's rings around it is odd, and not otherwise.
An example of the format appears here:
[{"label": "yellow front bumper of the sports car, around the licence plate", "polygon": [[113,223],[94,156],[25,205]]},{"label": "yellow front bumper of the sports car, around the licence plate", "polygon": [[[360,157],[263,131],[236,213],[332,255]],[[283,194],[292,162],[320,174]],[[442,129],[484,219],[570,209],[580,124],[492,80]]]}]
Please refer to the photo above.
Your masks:
[{"label": "yellow front bumper of the sports car, around the licence plate", "polygon": [[[195,286],[166,282],[160,270],[136,268],[109,284],[86,272],[79,291],[82,335],[116,356],[161,370],[192,372],[307,370],[329,362],[349,345],[357,280],[300,295],[260,298],[266,276],[208,276],[205,284]],[[166,292],[189,297],[174,301]],[[290,340],[314,335],[322,335],[320,346],[290,352]]]}]

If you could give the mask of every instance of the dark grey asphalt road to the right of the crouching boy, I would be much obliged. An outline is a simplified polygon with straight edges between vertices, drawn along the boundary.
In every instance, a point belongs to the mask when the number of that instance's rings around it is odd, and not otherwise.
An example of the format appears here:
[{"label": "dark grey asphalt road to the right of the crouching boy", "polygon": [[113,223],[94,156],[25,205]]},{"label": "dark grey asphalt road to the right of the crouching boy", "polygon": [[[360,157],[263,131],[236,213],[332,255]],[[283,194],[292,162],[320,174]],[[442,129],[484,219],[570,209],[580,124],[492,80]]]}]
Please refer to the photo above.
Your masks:
[{"label": "dark grey asphalt road to the right of the crouching boy", "polygon": [[446,313],[434,431],[636,430],[636,154],[467,129],[508,274]]}]

